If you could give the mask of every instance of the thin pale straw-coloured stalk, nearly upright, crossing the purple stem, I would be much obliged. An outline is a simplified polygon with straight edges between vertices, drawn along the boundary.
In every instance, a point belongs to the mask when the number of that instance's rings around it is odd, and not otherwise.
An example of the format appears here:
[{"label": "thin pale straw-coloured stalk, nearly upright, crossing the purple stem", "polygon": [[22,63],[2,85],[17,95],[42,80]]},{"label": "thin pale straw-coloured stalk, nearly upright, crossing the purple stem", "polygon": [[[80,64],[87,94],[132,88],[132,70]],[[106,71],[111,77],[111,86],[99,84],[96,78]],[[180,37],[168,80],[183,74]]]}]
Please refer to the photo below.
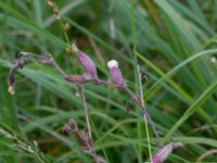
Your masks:
[{"label": "thin pale straw-coloured stalk, nearly upright, crossing the purple stem", "polygon": [[[138,74],[139,74],[139,88],[140,88],[141,104],[142,104],[142,106],[144,106],[143,90],[142,90],[142,78],[141,78],[139,65],[138,65]],[[143,114],[143,118],[144,118],[144,125],[145,125],[148,148],[149,148],[149,154],[150,154],[150,162],[152,163],[153,161],[152,161],[152,149],[151,149],[150,135],[149,135],[149,127],[148,127],[146,116],[144,114]]]}]

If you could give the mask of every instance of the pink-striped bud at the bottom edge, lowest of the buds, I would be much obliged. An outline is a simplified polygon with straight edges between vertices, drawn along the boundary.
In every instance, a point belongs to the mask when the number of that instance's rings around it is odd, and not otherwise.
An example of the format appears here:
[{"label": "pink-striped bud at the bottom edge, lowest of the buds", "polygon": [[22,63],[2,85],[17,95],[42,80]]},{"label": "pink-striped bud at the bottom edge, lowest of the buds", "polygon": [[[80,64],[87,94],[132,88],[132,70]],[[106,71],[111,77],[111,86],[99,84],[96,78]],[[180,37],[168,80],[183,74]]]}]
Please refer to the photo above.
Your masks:
[{"label": "pink-striped bud at the bottom edge, lowest of the buds", "polygon": [[156,154],[152,158],[153,163],[163,163],[174,149],[183,147],[181,142],[169,142],[161,148]]}]

